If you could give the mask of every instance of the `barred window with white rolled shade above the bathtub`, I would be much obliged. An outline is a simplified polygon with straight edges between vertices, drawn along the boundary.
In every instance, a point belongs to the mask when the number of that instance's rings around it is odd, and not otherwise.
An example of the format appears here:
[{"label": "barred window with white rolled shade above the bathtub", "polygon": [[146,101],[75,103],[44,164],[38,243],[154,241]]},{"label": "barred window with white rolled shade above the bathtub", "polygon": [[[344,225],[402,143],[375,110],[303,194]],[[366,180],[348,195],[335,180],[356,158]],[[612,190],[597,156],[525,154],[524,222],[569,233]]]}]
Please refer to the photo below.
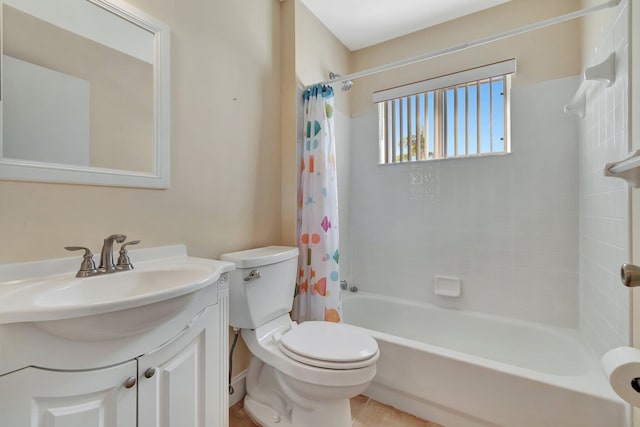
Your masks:
[{"label": "barred window with white rolled shade above the bathtub", "polygon": [[374,94],[380,163],[508,153],[514,72],[509,60]]}]

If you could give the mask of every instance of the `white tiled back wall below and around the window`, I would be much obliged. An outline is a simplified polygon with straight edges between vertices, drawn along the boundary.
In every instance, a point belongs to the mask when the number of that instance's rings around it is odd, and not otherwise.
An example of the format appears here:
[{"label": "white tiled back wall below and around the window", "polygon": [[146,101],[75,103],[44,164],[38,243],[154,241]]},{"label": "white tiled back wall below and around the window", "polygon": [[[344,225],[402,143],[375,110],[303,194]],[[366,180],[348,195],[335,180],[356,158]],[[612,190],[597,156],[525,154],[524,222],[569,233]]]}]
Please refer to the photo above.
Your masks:
[{"label": "white tiled back wall below and around the window", "polygon": [[[512,90],[512,153],[377,164],[375,112],[352,119],[350,277],[361,290],[578,326],[577,118],[565,78]],[[343,186],[341,177],[338,177]],[[433,292],[436,275],[462,295]]]}]

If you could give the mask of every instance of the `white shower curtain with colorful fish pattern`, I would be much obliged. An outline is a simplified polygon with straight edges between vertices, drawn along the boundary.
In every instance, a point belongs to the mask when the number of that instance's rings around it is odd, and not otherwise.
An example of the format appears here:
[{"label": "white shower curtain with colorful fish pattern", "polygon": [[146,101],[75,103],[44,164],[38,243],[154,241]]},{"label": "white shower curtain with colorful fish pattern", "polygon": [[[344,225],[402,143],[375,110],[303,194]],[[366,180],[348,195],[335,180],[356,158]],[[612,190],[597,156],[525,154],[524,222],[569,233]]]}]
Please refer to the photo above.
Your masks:
[{"label": "white shower curtain with colorful fish pattern", "polygon": [[330,86],[304,92],[297,236],[300,257],[292,317],[299,322],[340,322],[338,185]]}]

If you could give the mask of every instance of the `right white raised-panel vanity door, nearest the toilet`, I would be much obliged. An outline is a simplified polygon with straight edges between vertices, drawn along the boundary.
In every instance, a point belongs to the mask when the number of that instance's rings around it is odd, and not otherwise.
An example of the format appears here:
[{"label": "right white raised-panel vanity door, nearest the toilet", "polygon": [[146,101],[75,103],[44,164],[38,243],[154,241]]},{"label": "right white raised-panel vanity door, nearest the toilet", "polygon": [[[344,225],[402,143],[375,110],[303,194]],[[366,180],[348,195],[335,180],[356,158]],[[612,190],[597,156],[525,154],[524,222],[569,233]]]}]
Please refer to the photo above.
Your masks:
[{"label": "right white raised-panel vanity door, nearest the toilet", "polygon": [[139,427],[221,427],[218,306],[138,359]]}]

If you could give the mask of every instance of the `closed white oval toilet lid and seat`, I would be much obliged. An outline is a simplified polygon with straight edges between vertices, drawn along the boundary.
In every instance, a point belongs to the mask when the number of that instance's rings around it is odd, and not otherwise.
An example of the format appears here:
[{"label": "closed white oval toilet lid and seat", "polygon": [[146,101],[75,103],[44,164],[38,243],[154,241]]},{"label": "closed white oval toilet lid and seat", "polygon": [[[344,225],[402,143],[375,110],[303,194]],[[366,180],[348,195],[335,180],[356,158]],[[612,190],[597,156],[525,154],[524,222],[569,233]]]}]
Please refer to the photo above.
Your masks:
[{"label": "closed white oval toilet lid and seat", "polygon": [[378,356],[378,344],[368,334],[344,323],[322,321],[292,328],[280,339],[280,349],[299,362],[331,369],[367,366]]}]

